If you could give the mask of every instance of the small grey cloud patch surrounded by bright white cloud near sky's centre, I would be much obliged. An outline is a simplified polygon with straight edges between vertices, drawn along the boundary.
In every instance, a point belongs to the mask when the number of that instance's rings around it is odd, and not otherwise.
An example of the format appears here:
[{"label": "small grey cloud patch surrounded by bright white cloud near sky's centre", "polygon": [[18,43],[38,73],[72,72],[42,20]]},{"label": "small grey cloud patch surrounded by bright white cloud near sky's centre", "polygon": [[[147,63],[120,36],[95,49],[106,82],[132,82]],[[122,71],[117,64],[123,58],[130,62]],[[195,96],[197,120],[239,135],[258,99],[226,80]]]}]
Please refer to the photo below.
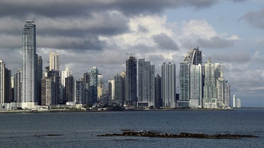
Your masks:
[{"label": "small grey cloud patch surrounded by bright white cloud near sky's centre", "polygon": [[164,49],[179,50],[177,43],[173,41],[167,34],[156,34],[152,36],[153,40]]}]

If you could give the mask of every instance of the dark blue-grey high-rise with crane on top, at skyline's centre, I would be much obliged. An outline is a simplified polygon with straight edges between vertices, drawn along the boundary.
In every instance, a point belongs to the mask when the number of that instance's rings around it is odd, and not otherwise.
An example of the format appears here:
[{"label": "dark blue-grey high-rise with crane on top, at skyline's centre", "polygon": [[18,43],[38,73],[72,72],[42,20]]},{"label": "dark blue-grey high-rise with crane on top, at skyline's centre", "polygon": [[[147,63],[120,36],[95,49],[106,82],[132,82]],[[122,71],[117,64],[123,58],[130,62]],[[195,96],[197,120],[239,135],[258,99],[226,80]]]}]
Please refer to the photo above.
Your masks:
[{"label": "dark blue-grey high-rise with crane on top, at skyline's centre", "polygon": [[130,57],[126,60],[125,72],[125,105],[137,105],[137,59]]}]

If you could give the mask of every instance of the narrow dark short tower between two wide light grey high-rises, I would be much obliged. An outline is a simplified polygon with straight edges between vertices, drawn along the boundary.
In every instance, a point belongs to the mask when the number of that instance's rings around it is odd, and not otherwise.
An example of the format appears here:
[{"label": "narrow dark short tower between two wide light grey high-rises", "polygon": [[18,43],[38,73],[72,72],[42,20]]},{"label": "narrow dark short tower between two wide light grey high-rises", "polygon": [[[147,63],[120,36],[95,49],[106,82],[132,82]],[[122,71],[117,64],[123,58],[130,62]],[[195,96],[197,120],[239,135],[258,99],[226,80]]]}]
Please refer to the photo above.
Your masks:
[{"label": "narrow dark short tower between two wide light grey high-rises", "polygon": [[156,74],[155,76],[155,107],[163,107],[161,97],[161,76]]}]

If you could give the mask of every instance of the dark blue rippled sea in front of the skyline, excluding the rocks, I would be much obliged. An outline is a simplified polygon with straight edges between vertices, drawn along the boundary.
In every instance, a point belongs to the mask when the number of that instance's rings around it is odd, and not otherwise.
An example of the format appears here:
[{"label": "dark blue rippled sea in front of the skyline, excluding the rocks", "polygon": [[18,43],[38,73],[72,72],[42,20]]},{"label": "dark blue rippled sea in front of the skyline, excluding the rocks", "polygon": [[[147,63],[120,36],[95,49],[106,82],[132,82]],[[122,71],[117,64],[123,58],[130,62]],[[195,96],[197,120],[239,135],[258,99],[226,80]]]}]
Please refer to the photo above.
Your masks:
[{"label": "dark blue rippled sea in front of the skyline, excluding the rocks", "polygon": [[[121,130],[256,135],[239,139],[99,137]],[[0,114],[0,147],[264,147],[264,109]]]}]

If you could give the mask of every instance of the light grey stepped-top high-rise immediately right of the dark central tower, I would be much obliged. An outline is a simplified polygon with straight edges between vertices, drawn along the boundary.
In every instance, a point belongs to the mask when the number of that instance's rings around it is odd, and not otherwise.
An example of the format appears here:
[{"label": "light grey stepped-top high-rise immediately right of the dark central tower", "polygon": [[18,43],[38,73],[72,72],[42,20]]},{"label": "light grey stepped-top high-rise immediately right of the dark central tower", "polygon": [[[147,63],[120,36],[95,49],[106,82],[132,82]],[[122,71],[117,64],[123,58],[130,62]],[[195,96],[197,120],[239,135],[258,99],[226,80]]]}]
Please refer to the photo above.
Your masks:
[{"label": "light grey stepped-top high-rise immediately right of the dark central tower", "polygon": [[137,106],[155,107],[155,65],[144,58],[137,60]]}]

